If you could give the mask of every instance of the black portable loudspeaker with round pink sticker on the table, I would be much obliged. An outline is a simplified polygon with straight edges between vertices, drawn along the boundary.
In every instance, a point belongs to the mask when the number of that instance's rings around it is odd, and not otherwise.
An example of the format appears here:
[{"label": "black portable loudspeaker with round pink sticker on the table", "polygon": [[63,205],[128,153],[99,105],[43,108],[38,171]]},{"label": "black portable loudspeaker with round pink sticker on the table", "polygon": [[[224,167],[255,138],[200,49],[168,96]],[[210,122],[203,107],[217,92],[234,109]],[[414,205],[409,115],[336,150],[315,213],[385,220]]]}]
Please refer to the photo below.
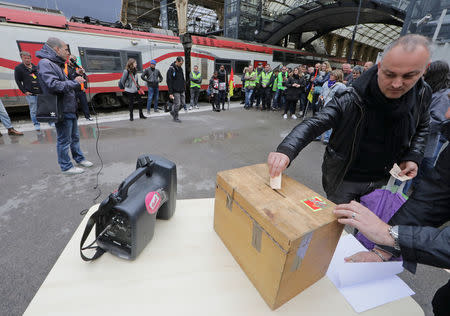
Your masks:
[{"label": "black portable loudspeaker with round pink sticker on the table", "polygon": [[[176,165],[160,156],[142,155],[136,170],[101,204],[86,225],[80,252],[86,260],[95,260],[105,251],[133,260],[153,238],[156,219],[170,219],[176,207]],[[96,247],[83,244],[96,226]],[[96,249],[92,258],[83,250]]]}]

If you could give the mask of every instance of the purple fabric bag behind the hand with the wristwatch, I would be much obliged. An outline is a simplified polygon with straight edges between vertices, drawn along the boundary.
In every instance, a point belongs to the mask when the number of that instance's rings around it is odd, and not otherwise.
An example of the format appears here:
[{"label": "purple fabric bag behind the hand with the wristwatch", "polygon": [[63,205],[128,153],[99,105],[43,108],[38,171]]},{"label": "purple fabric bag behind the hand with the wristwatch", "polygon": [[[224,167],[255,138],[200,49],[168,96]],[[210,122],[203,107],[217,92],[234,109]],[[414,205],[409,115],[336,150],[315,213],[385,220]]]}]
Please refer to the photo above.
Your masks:
[{"label": "purple fabric bag behind the hand with the wristwatch", "polygon": [[[394,183],[395,178],[391,177],[386,187],[377,189],[361,197],[361,204],[371,210],[385,223],[389,222],[408,198],[402,193],[406,182],[403,182],[400,186],[395,186]],[[375,246],[361,232],[358,232],[355,237],[368,250],[372,250]]]}]

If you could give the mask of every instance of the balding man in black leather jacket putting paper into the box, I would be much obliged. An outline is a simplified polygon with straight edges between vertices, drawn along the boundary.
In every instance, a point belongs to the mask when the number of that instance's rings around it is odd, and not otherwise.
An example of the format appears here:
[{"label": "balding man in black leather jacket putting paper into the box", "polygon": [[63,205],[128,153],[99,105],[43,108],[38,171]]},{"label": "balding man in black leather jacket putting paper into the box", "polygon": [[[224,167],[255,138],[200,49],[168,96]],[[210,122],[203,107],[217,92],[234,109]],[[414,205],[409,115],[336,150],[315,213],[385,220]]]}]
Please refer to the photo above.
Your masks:
[{"label": "balding man in black leather jacket putting paper into the box", "polygon": [[422,75],[430,60],[427,38],[410,34],[384,51],[378,65],[314,117],[304,120],[268,157],[272,177],[285,170],[318,135],[332,128],[322,164],[328,199],[358,200],[386,181],[393,163],[415,177],[428,136],[431,89]]}]

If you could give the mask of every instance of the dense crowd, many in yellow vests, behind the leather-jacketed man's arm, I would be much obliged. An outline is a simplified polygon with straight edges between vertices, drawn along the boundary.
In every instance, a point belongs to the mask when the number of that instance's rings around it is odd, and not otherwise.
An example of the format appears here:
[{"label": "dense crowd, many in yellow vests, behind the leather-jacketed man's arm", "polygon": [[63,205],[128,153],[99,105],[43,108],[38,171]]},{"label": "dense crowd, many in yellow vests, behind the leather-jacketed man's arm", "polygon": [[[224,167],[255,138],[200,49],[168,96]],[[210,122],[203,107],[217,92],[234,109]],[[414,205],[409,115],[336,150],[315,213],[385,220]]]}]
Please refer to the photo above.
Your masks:
[{"label": "dense crowd, many in yellow vests, behind the leather-jacketed man's arm", "polygon": [[328,61],[316,63],[314,67],[281,66],[274,70],[268,64],[259,63],[256,69],[250,65],[244,69],[241,78],[244,108],[284,111],[284,119],[304,116],[307,109],[316,114],[336,92],[352,86],[372,66],[370,61],[364,67],[356,65],[352,68],[344,63],[341,69],[334,70]]}]

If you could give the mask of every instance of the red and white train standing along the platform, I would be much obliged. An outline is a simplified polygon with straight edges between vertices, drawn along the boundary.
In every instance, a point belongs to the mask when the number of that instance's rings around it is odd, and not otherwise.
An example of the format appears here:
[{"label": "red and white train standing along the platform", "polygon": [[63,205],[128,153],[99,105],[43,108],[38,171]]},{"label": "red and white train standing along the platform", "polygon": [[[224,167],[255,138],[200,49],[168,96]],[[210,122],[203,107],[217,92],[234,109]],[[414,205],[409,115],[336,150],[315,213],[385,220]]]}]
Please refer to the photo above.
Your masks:
[{"label": "red and white train standing along the platform", "polygon": [[[20,52],[30,52],[33,63],[37,64],[39,59],[35,52],[49,37],[58,37],[69,45],[71,54],[77,56],[88,75],[89,97],[100,107],[121,105],[122,92],[117,82],[128,58],[137,60],[140,71],[155,59],[164,77],[175,57],[190,58],[192,66],[199,66],[202,89],[205,90],[209,78],[220,65],[225,65],[228,71],[233,68],[235,85],[239,89],[242,71],[249,64],[262,62],[274,68],[280,64],[313,65],[324,59],[332,65],[345,62],[295,49],[202,36],[192,36],[190,56],[185,56],[183,44],[176,36],[71,22],[58,13],[5,5],[0,5],[0,34],[0,97],[6,107],[26,105],[24,95],[14,81],[14,68],[21,62]],[[167,91],[165,80],[160,91],[163,94]]]}]

